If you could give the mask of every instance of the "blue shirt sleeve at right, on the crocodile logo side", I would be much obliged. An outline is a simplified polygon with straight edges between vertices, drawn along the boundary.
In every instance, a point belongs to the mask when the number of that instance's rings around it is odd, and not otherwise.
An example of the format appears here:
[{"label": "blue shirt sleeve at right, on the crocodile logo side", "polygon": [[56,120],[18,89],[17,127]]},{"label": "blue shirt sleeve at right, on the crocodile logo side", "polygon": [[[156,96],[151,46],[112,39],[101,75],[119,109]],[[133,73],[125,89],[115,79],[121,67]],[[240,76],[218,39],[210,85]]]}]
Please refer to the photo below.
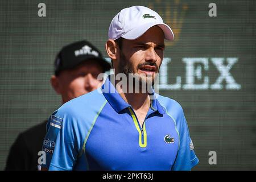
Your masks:
[{"label": "blue shirt sleeve at right, on the crocodile logo side", "polygon": [[193,142],[189,137],[188,125],[184,116],[179,123],[178,130],[180,135],[180,146],[172,170],[188,171],[199,163],[199,159],[197,159]]}]

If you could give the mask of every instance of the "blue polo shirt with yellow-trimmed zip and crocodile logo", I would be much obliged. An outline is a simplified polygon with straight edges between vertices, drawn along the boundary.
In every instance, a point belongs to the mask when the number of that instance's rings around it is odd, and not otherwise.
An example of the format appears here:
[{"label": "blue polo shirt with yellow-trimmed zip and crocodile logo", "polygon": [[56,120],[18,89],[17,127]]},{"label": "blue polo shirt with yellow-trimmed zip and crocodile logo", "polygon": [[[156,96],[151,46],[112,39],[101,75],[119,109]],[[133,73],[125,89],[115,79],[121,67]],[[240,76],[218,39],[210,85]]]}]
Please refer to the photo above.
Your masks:
[{"label": "blue polo shirt with yellow-trimmed zip and crocodile logo", "polygon": [[190,170],[199,162],[176,101],[154,93],[141,127],[109,78],[52,113],[43,151],[49,170]]}]

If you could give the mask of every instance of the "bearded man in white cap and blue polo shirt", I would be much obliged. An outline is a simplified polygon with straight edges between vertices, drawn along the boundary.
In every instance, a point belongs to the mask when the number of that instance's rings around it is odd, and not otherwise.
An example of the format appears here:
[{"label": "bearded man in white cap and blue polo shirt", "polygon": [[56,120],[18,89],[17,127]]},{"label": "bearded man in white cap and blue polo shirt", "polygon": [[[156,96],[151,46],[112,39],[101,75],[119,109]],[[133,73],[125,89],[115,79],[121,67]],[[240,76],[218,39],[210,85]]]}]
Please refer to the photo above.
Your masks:
[{"label": "bearded man in white cap and blue polo shirt", "polygon": [[[67,102],[51,115],[45,139],[54,146],[43,145],[42,167],[190,170],[199,160],[183,109],[152,89],[163,60],[164,39],[174,39],[171,28],[155,11],[133,6],[113,18],[108,35],[105,47],[114,75],[100,89]],[[139,88],[130,83],[130,75]]]}]

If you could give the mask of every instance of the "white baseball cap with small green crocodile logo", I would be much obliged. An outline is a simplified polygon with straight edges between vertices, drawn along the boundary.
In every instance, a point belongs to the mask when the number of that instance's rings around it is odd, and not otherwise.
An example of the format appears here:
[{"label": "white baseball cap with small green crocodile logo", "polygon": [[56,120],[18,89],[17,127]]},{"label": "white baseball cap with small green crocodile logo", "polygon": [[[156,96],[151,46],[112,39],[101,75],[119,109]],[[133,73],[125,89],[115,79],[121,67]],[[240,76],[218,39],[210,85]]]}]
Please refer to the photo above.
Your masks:
[{"label": "white baseball cap with small green crocodile logo", "polygon": [[174,32],[163,22],[161,16],[144,6],[132,6],[122,9],[114,16],[109,26],[109,39],[120,37],[134,40],[138,39],[152,26],[159,26],[167,40],[174,40]]}]

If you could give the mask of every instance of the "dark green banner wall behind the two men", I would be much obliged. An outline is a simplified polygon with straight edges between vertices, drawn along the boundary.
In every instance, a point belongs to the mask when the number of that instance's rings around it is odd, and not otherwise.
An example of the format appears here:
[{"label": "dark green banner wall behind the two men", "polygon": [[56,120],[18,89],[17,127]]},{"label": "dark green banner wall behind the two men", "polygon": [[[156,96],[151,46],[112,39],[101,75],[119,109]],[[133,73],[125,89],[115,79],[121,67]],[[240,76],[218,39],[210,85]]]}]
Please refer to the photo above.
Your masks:
[{"label": "dark green banner wall behind the two men", "polygon": [[[46,4],[46,17],[38,4]],[[217,16],[209,17],[209,3]],[[18,134],[45,119],[60,104],[49,84],[53,60],[65,44],[87,39],[106,57],[109,24],[121,9],[134,5],[158,11],[174,28],[175,42],[167,43],[168,84],[181,77],[181,89],[160,94],[183,106],[195,152],[194,169],[256,169],[256,3],[255,1],[1,1],[0,2],[0,169]],[[202,77],[208,89],[183,89],[185,57],[206,57]],[[230,74],[241,89],[210,89],[220,72],[212,57],[236,57]],[[225,64],[227,64],[225,62]],[[197,79],[196,84],[203,83]],[[31,143],[32,146],[32,143]],[[209,151],[217,165],[209,165]]]}]

